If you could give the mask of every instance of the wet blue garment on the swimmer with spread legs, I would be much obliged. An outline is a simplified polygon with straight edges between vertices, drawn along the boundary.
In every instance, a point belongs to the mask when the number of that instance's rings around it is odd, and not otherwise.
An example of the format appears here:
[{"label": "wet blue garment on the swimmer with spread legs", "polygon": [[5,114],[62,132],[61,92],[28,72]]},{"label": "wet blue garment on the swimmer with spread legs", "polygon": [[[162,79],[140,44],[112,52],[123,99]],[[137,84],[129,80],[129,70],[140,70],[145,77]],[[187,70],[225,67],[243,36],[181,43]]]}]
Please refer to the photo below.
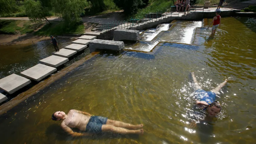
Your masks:
[{"label": "wet blue garment on the swimmer with spread legs", "polygon": [[202,89],[197,89],[194,96],[196,100],[205,101],[207,104],[212,104],[216,99],[216,94],[214,92]]}]

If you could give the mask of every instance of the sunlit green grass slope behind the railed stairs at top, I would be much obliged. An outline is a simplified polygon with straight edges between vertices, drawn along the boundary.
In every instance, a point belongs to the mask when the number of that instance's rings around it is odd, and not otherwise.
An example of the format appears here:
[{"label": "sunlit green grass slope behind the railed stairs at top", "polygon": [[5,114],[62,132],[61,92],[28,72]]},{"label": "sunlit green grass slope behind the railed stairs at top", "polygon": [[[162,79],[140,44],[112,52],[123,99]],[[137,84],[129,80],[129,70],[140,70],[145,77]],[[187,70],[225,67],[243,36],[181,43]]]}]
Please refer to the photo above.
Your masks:
[{"label": "sunlit green grass slope behind the railed stairs at top", "polygon": [[173,5],[173,1],[167,1],[167,0],[158,0],[153,2],[152,4],[149,4],[147,7],[139,9],[136,14],[130,17],[135,17],[135,18],[143,18],[145,17],[145,14],[147,13],[164,13],[166,9],[169,9],[170,6]]}]

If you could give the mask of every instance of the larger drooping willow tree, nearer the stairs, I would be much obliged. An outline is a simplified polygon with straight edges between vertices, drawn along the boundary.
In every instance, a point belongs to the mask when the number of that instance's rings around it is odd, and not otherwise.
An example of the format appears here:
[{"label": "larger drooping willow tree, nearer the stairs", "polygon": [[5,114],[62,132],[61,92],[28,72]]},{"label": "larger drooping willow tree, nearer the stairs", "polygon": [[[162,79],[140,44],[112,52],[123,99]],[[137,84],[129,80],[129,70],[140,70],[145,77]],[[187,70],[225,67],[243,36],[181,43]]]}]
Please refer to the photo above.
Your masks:
[{"label": "larger drooping willow tree, nearer the stairs", "polygon": [[66,24],[81,21],[81,14],[85,8],[91,7],[91,2],[86,0],[55,0],[54,9],[57,16],[64,19]]}]

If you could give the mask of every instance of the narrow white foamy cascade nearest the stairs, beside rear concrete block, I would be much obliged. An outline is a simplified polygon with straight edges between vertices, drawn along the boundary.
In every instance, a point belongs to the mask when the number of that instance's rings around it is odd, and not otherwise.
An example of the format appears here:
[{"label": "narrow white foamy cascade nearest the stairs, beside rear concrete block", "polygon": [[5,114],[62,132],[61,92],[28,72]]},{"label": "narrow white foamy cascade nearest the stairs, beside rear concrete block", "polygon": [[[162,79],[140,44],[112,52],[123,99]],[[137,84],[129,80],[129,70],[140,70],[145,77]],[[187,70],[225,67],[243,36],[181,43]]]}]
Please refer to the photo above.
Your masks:
[{"label": "narrow white foamy cascade nearest the stairs, beside rear concrete block", "polygon": [[152,41],[155,36],[157,36],[161,31],[167,31],[169,29],[169,23],[161,24],[158,29],[148,29],[146,32],[150,33],[144,33],[144,40],[145,41]]}]

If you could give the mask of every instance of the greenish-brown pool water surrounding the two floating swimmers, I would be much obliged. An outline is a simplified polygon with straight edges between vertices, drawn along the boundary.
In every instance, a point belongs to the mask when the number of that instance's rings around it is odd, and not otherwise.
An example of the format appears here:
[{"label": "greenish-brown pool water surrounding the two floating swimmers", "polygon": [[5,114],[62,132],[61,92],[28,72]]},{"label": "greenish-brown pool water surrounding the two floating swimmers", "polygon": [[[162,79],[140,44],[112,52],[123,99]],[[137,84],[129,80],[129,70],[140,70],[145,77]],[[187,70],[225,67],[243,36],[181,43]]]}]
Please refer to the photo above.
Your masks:
[{"label": "greenish-brown pool water surrounding the two floating swimmers", "polygon": [[[255,143],[256,21],[222,18],[221,28],[209,38],[211,20],[174,21],[149,41],[126,44],[128,51],[103,51],[87,60],[1,116],[1,143]],[[196,128],[189,127],[194,105],[190,71],[208,91],[230,79],[217,96],[222,104],[218,118]],[[61,122],[51,120],[52,113],[71,109],[142,123],[144,135],[73,138]],[[204,119],[201,114],[198,120]]]}]

